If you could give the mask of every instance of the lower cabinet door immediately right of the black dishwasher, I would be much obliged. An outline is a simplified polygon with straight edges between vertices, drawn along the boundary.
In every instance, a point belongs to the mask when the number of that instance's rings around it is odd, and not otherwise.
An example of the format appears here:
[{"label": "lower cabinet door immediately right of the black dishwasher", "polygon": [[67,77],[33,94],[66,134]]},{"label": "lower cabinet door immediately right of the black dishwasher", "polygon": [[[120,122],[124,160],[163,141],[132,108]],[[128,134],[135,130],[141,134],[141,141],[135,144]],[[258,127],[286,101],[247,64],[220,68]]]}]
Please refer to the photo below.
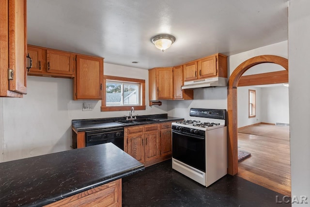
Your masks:
[{"label": "lower cabinet door immediately right of the black dishwasher", "polygon": [[127,153],[134,159],[144,162],[144,134],[131,134],[127,136]]}]

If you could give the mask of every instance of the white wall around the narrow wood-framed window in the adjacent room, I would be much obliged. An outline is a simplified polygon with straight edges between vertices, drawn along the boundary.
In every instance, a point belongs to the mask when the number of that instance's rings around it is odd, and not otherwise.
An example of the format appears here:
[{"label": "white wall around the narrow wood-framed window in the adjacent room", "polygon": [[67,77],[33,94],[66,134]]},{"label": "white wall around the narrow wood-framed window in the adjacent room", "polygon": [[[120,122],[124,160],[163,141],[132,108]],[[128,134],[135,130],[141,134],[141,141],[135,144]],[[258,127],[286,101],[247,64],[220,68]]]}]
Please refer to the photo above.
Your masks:
[{"label": "white wall around the narrow wood-framed window in the adjacent room", "polygon": [[[238,87],[238,128],[262,122],[261,88],[254,86]],[[256,117],[248,118],[248,90],[256,91]]]}]

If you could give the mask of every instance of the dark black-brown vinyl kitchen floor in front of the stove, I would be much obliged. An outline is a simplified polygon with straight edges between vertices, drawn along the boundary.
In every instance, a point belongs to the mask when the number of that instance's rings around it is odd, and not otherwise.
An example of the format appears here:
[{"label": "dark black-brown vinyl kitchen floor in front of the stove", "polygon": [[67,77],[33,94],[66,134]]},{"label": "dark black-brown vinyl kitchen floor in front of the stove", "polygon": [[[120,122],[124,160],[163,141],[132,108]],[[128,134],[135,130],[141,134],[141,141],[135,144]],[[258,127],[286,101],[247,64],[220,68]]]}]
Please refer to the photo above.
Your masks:
[{"label": "dark black-brown vinyl kitchen floor in front of the stove", "polygon": [[173,170],[171,159],[123,178],[122,188],[123,207],[291,206],[282,202],[278,192],[238,176],[226,175],[205,188]]}]

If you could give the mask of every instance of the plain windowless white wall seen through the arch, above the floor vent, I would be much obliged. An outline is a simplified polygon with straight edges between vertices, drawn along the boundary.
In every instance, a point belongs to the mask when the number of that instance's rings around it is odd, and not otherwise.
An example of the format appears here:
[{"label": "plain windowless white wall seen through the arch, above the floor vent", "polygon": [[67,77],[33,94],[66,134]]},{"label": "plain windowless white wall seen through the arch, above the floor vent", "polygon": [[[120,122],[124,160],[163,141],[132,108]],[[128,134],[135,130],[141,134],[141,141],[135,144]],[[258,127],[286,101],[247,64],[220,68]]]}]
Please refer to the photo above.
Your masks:
[{"label": "plain windowless white wall seen through the arch, above the floor vent", "polygon": [[289,124],[289,89],[285,86],[262,88],[261,122]]}]

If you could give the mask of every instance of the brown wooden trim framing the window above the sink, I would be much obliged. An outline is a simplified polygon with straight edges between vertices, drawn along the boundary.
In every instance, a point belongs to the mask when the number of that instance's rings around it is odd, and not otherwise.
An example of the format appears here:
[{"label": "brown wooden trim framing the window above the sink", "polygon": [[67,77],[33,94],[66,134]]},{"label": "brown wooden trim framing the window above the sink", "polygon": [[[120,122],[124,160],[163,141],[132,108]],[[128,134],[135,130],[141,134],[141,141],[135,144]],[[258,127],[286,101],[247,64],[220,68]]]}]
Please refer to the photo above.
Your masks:
[{"label": "brown wooden trim framing the window above the sink", "polygon": [[[136,82],[140,83],[140,104],[137,105],[126,105],[126,106],[107,106],[106,104],[106,84],[107,80],[118,80],[124,82]],[[103,90],[102,90],[102,100],[101,100],[101,111],[130,111],[131,107],[135,110],[145,110],[145,80],[142,79],[131,79],[116,76],[103,76]]]}]

